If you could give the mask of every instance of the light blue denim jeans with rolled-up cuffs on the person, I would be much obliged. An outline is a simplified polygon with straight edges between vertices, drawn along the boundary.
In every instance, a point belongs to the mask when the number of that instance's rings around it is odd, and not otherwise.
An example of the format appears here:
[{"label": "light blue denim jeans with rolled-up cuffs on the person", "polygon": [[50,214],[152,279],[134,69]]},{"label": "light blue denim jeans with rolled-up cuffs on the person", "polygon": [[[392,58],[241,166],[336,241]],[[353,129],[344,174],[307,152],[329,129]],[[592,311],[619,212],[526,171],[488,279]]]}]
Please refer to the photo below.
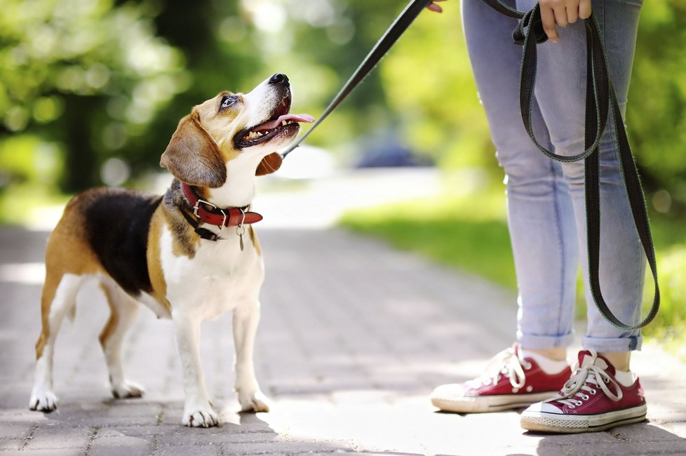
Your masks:
[{"label": "light blue denim jeans with rolled-up cuffs on the person", "polygon": [[[525,11],[534,0],[511,0]],[[605,40],[610,74],[622,113],[626,107],[640,0],[593,1]],[[517,338],[529,349],[568,347],[574,338],[579,263],[586,285],[588,328],[584,348],[640,349],[640,331],[618,330],[593,303],[586,278],[584,163],[559,163],[528,137],[518,99],[521,46],[512,41],[517,21],[480,0],[462,1],[462,21],[480,100],[497,159],[504,168],[508,224],[518,284]],[[539,142],[560,155],[584,149],[586,35],[583,21],[558,27],[560,41],[538,46],[532,117]],[[633,228],[610,113],[600,143],[600,286],[624,323],[640,318],[645,255]]]}]

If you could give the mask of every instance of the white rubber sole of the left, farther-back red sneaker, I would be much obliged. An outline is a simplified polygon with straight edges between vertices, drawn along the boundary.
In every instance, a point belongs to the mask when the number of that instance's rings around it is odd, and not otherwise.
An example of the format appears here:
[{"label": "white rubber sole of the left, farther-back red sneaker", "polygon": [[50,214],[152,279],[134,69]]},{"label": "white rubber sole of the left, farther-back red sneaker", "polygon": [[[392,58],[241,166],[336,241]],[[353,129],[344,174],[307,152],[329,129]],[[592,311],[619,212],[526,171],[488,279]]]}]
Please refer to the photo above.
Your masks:
[{"label": "white rubber sole of the left, farther-back red sneaker", "polygon": [[547,401],[558,394],[558,391],[544,391],[542,393],[500,394],[493,396],[471,396],[448,398],[431,397],[431,404],[443,412],[452,413],[487,413],[524,408],[541,401]]}]

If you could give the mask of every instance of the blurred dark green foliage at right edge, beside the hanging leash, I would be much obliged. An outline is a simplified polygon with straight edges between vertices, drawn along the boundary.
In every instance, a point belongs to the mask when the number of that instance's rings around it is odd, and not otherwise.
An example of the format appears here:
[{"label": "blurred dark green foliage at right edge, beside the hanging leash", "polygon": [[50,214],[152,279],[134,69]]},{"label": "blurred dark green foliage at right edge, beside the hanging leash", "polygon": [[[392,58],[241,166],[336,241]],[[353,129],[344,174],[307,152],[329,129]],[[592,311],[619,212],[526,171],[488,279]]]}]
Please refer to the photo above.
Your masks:
[{"label": "blurred dark green foliage at right edge, beside the hanging leash", "polygon": [[[643,5],[626,123],[660,212],[686,209],[686,1]],[[671,207],[670,207],[671,206]]]}]

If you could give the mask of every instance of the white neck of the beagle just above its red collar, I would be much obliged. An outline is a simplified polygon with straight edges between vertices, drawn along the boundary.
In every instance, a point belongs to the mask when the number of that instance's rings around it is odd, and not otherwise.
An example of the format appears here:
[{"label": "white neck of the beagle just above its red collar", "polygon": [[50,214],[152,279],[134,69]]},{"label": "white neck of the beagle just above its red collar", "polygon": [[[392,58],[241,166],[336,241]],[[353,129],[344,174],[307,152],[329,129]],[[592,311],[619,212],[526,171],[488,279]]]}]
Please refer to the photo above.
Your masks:
[{"label": "white neck of the beagle just above its red collar", "polygon": [[222,187],[208,189],[210,203],[219,208],[249,206],[255,196],[255,170],[262,156],[227,162],[227,180]]}]

